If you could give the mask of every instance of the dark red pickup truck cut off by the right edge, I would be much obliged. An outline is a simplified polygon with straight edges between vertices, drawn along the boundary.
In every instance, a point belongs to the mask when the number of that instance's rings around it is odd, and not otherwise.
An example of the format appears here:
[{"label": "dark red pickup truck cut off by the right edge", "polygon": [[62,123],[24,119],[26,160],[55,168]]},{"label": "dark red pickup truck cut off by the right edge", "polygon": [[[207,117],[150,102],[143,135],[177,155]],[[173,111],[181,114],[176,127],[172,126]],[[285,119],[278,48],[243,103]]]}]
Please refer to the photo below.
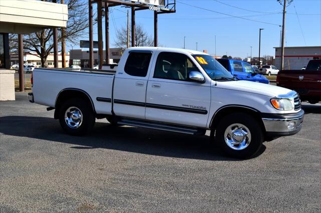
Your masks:
[{"label": "dark red pickup truck cut off by the right edge", "polygon": [[309,60],[305,70],[281,70],[276,85],[293,89],[302,101],[321,101],[321,59]]}]

